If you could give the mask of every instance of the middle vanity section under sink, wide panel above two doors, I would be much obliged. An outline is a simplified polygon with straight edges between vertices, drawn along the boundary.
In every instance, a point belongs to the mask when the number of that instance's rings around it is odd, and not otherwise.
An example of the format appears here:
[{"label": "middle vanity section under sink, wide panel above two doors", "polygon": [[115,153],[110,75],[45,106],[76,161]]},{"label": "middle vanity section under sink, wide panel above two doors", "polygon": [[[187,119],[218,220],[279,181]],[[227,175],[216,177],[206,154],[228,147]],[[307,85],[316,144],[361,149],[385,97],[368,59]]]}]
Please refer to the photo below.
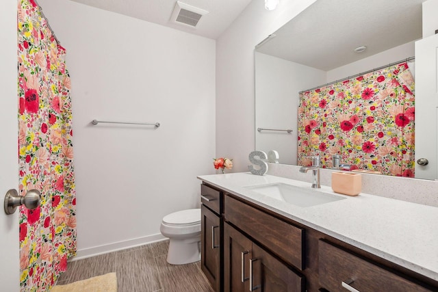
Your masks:
[{"label": "middle vanity section under sink, wide panel above two doors", "polygon": [[224,291],[305,291],[301,228],[231,196],[224,220]]}]

